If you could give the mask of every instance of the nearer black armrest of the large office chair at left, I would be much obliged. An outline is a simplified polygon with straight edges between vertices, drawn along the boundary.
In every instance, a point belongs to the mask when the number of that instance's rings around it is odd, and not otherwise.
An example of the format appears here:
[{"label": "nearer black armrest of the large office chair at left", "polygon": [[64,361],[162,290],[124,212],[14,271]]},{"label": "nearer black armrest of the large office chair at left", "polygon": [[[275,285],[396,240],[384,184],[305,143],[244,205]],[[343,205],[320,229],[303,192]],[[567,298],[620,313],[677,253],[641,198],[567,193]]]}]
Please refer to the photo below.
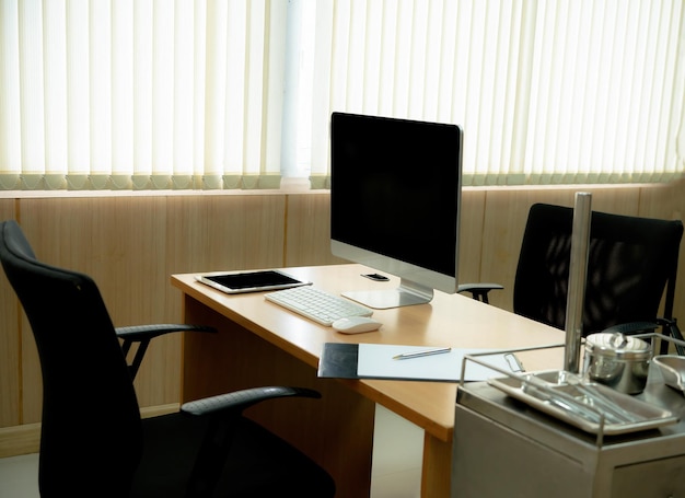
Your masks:
[{"label": "nearer black armrest of the large office chair at left", "polygon": [[263,401],[291,396],[320,398],[321,394],[316,391],[304,387],[253,387],[184,403],[181,410],[196,416],[221,412],[240,414],[245,408],[256,405],[257,403],[262,403]]}]

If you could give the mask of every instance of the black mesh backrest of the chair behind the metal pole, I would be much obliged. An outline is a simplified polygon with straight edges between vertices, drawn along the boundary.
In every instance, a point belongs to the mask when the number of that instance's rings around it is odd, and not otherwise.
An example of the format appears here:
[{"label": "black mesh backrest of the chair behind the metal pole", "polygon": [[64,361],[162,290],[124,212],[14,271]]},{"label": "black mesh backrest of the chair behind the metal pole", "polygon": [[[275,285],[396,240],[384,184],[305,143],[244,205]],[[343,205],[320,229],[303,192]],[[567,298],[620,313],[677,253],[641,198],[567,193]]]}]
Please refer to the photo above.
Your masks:
[{"label": "black mesh backrest of the chair behind the metal pole", "polygon": [[[514,281],[514,312],[566,326],[573,209],[531,208]],[[683,223],[592,212],[583,335],[653,322],[664,296],[671,319]]]}]

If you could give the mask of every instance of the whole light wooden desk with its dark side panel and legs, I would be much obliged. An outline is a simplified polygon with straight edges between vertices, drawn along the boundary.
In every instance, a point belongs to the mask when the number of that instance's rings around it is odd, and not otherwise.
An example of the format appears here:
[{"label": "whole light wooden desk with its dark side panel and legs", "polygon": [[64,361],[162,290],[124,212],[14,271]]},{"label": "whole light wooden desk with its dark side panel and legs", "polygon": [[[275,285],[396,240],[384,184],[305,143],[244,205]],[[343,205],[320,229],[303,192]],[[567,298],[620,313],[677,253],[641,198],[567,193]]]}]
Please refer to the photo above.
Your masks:
[{"label": "whole light wooden desk with its dark side panel and legs", "polygon": [[[360,265],[288,268],[332,293],[396,287],[360,276]],[[279,399],[249,416],[300,447],[334,476],[339,497],[368,496],[375,403],[425,430],[421,494],[450,495],[456,384],[318,379],[324,343],[376,343],[460,348],[516,348],[564,343],[561,331],[460,294],[437,292],[429,304],[376,310],[383,327],[345,336],[267,302],[262,293],[228,296],[174,275],[184,293],[184,320],[220,334],[186,334],[182,399],[255,385],[316,389],[323,399]],[[562,351],[522,356],[526,369],[561,368]],[[398,435],[402,437],[402,435]]]}]

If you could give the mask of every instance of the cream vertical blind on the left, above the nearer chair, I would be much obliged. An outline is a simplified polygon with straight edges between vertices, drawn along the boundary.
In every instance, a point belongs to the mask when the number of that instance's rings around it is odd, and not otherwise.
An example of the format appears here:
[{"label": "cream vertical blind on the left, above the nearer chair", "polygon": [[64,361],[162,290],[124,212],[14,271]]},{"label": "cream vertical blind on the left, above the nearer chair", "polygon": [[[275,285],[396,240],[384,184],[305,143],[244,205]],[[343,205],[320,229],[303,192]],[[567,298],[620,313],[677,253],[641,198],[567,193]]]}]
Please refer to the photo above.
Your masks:
[{"label": "cream vertical blind on the left, above the nearer chair", "polygon": [[0,188],[278,188],[286,2],[0,0]]}]

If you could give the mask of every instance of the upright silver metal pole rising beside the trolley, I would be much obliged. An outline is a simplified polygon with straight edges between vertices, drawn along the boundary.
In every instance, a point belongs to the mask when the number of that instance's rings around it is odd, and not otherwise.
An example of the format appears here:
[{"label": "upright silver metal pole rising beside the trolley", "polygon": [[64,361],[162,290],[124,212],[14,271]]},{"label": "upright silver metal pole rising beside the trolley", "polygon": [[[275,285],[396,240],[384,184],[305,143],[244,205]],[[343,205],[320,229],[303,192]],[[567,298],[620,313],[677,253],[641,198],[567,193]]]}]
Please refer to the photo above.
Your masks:
[{"label": "upright silver metal pole rising beside the trolley", "polygon": [[576,193],[573,208],[573,233],[571,236],[571,262],[569,266],[568,296],[566,301],[565,370],[580,370],[580,341],[583,328],[583,304],[588,278],[588,253],[590,251],[590,223],[592,220],[592,194]]}]

